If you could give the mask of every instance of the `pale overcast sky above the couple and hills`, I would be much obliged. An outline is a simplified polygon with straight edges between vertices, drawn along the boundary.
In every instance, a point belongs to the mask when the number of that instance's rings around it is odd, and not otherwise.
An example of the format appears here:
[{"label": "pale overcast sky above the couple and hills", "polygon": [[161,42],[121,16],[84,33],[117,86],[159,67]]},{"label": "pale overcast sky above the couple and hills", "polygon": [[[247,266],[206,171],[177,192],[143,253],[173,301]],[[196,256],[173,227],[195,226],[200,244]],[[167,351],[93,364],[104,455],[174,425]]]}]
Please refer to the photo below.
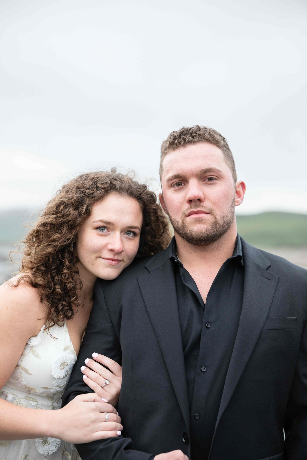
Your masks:
[{"label": "pale overcast sky above the couple and hills", "polygon": [[203,124],[238,213],[307,213],[306,30],[305,0],[1,0],[0,208],[111,166],[158,190],[162,140]]}]

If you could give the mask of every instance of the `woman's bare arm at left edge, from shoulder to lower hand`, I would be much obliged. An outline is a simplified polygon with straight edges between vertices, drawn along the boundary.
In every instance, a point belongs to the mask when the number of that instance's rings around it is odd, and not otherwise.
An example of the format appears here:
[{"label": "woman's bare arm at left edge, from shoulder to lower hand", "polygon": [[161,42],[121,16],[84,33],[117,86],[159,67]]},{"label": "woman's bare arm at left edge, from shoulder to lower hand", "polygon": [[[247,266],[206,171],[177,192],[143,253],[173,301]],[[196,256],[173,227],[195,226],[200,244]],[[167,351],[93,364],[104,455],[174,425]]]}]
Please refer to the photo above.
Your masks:
[{"label": "woman's bare arm at left edge, from shoulder to lower hand", "polygon": [[[0,287],[0,388],[12,375],[30,337],[45,321],[44,308],[35,288],[21,282],[17,288]],[[108,412],[109,421],[105,421]],[[98,395],[81,395],[58,410],[16,406],[0,398],[0,439],[59,437],[68,442],[90,442],[117,437],[121,420]]]}]

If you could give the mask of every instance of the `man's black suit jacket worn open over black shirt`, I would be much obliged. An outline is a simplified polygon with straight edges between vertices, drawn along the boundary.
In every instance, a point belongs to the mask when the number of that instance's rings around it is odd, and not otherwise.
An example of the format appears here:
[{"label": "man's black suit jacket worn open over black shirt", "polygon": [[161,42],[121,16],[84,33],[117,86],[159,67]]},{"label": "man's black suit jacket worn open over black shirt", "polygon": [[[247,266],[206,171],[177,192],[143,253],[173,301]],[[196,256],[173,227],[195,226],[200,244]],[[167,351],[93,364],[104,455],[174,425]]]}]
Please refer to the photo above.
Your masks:
[{"label": "man's black suit jacket worn open over black shirt", "polygon": [[[241,241],[242,313],[208,458],[306,460],[307,270]],[[124,429],[121,437],[79,444],[81,458],[149,460],[174,449],[190,457],[190,409],[168,250],[134,261],[112,282],[97,281],[64,404],[91,391],[80,367],[93,352],[122,364],[118,411]]]}]

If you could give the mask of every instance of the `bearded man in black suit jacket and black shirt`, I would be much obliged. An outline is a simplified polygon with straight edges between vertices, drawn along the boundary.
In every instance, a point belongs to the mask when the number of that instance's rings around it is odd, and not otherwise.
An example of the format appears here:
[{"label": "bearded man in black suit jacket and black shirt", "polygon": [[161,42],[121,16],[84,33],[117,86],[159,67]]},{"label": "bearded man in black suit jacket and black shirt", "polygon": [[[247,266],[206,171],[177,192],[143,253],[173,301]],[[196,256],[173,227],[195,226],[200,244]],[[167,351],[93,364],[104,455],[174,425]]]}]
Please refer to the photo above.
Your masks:
[{"label": "bearded man in black suit jacket and black shirt", "polygon": [[64,394],[89,391],[93,351],[122,361],[123,436],[79,445],[81,458],[306,459],[307,271],[237,235],[245,184],[219,132],[181,128],[161,152],[174,238],[98,280]]}]

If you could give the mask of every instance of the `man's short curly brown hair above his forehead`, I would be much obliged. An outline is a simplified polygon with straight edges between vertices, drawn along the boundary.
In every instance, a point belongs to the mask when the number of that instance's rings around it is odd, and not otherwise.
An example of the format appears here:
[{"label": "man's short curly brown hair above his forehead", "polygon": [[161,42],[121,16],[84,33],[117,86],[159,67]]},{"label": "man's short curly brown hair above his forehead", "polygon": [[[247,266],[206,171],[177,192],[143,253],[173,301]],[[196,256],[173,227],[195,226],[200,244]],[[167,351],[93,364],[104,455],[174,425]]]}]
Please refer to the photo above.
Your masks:
[{"label": "man's short curly brown hair above his forehead", "polygon": [[198,144],[200,142],[209,142],[216,145],[223,152],[227,165],[230,167],[234,183],[237,182],[236,166],[226,138],[220,132],[207,126],[182,127],[179,131],[172,131],[169,136],[162,142],[160,157],[160,179],[162,178],[163,160],[165,155],[183,145]]}]

